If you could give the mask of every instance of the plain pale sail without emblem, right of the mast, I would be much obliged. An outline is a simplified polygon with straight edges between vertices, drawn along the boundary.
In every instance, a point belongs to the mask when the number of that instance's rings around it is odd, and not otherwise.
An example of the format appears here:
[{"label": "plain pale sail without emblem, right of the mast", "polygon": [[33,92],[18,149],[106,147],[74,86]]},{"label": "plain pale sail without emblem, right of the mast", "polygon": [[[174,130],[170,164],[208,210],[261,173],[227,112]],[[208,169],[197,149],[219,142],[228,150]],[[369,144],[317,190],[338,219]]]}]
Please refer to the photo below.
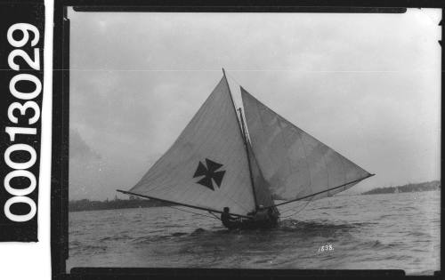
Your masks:
[{"label": "plain pale sail without emblem, right of the mast", "polygon": [[241,96],[252,148],[274,199],[333,196],[371,176],[242,87]]}]

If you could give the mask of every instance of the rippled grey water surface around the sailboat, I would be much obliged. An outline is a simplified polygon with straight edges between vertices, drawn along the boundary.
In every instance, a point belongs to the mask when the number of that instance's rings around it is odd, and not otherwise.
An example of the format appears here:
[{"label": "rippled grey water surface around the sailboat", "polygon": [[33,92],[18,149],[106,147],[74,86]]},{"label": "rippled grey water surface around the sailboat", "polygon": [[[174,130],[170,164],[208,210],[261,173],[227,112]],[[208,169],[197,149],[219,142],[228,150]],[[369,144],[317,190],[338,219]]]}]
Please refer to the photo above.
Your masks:
[{"label": "rippled grey water surface around the sailboat", "polygon": [[[433,274],[440,225],[439,191],[329,197],[263,230],[228,231],[219,220],[169,207],[70,212],[67,265]],[[332,250],[320,251],[324,245]]]}]

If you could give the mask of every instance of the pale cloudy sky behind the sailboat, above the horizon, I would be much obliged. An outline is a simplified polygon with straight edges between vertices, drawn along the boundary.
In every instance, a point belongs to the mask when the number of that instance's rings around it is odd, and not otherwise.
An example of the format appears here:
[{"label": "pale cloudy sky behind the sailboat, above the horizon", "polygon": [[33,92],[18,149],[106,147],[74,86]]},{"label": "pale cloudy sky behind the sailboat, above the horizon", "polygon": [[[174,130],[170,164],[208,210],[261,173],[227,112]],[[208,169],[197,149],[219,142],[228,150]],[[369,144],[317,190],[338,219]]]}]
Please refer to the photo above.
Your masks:
[{"label": "pale cloudy sky behind the sailboat, above the horizon", "polygon": [[222,68],[238,105],[242,85],[376,173],[345,194],[440,180],[441,10],[69,10],[69,20],[69,199],[103,200],[132,188]]}]

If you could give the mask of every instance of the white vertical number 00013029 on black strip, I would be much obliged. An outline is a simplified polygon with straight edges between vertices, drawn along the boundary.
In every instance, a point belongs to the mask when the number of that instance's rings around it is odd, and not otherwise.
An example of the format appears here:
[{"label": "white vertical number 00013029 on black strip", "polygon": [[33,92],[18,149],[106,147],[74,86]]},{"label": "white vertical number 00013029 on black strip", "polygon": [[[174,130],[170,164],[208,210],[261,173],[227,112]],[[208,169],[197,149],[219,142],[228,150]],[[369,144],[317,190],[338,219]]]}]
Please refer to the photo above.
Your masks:
[{"label": "white vertical number 00013029 on black strip", "polygon": [[[20,39],[17,40],[14,36],[20,37]],[[41,94],[42,82],[32,74],[20,73],[20,65],[17,63],[17,59],[21,58],[24,60],[32,70],[40,70],[40,50],[34,48],[34,57],[31,58],[27,52],[20,49],[26,44],[30,44],[31,47],[36,46],[40,40],[40,34],[38,28],[34,25],[15,23],[8,29],[7,39],[12,47],[17,48],[9,53],[8,65],[13,71],[19,73],[13,76],[9,83],[9,91],[17,101],[13,101],[8,107],[8,119],[12,125],[5,127],[5,132],[9,135],[11,145],[4,151],[4,162],[12,168],[12,171],[4,178],[4,188],[12,197],[4,204],[4,215],[9,220],[24,222],[31,220],[36,215],[36,202],[28,197],[28,195],[36,189],[36,175],[29,172],[28,169],[36,164],[37,155],[35,148],[28,144],[20,143],[16,136],[19,134],[36,135],[36,127],[32,127],[32,125],[36,124],[40,118],[40,108],[33,99]],[[34,84],[34,90],[32,92],[20,92],[20,90],[18,90],[18,84],[20,83],[32,83]],[[29,114],[29,111],[32,111],[32,113]],[[17,116],[29,116],[28,125],[13,126],[13,124],[19,124],[19,118]],[[28,153],[28,161],[16,162],[12,159],[12,153]],[[27,188],[13,188],[12,179],[20,177],[29,180]],[[12,204],[28,204],[29,212],[26,214],[14,214],[11,212]]]}]

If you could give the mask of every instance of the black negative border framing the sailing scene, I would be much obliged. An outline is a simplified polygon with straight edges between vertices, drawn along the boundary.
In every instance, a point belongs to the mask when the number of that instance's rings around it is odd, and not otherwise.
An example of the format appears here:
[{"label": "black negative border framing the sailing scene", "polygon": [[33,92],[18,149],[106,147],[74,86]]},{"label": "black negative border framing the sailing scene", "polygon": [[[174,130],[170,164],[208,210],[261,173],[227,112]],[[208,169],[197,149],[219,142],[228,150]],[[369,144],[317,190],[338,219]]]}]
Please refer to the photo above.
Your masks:
[{"label": "black negative border framing the sailing scene", "polygon": [[[441,8],[424,1],[137,1],[62,0],[54,4],[53,53],[53,161],[52,161],[52,269],[54,279],[147,279],[184,278],[401,278],[403,270],[298,270],[298,269],[210,269],[210,268],[72,268],[66,273],[69,257],[68,167],[69,167],[69,19],[68,6],[82,12],[405,12],[406,7]],[[353,6],[352,6],[353,5]],[[403,7],[403,8],[399,8]],[[443,11],[442,11],[443,14]],[[443,36],[443,29],[442,29]],[[442,50],[443,53],[443,50]],[[442,55],[443,68],[443,55]],[[443,72],[442,72],[443,78]],[[443,89],[442,89],[443,91]],[[443,196],[441,194],[441,196]],[[442,200],[443,201],[443,200]],[[443,208],[441,210],[441,214]],[[443,260],[443,251],[441,251]],[[441,276],[437,271],[434,276]]]}]

